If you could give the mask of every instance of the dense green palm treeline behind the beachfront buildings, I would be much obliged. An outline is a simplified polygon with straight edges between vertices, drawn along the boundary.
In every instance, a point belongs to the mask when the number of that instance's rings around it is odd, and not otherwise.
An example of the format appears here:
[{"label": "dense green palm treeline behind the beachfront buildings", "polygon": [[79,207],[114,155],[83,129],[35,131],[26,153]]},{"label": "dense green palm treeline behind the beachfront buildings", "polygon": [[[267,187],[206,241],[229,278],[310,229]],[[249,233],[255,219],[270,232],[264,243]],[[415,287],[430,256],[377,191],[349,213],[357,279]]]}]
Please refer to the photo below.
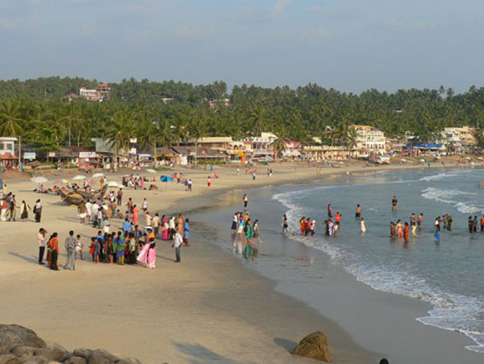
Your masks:
[{"label": "dense green palm treeline behind the beachfront buildings", "polygon": [[[229,93],[223,81],[194,86],[131,78],[109,84],[109,102],[68,101],[70,93],[98,83],[58,77],[0,81],[0,134],[22,136],[24,143],[44,149],[89,145],[97,136],[116,140],[120,147],[137,137],[142,147],[149,147],[261,131],[305,144],[313,136],[348,144],[352,124],[373,125],[395,137],[410,131],[422,141],[431,140],[443,127],[469,125],[481,130],[484,125],[484,88],[476,87],[462,94],[440,87],[395,93],[371,89],[355,95],[317,84],[297,89],[244,84]],[[225,98],[230,99],[228,107]]]}]

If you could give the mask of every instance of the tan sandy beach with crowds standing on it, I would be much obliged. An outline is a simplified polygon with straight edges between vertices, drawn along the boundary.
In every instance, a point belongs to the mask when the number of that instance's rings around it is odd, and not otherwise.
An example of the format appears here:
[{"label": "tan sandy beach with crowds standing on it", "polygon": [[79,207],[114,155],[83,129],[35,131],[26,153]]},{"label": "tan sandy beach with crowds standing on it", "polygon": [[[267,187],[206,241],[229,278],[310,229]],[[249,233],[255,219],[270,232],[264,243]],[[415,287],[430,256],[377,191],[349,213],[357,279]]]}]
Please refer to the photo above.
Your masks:
[{"label": "tan sandy beach with crowds standing on it", "polygon": [[[220,178],[212,179],[210,189],[206,184],[210,172],[177,168],[174,171],[180,170],[194,181],[193,192],[185,192],[183,185],[176,182],[157,181],[159,190],[126,190],[123,199],[125,202],[131,197],[140,205],[146,197],[152,213],[174,215],[230,203],[238,198],[238,194],[227,195],[233,190],[310,183],[346,172],[372,173],[402,167],[421,166],[352,165],[323,169],[322,176],[316,176],[312,167],[283,165],[273,167],[272,177],[260,173],[255,181],[243,172],[237,174],[235,168],[216,167]],[[108,174],[108,181],[120,182],[121,176]],[[51,181],[56,178],[48,176]],[[59,233],[60,264],[66,260],[64,238],[68,230],[82,235],[88,246],[89,237],[97,229],[81,225],[76,208],[66,206],[58,196],[32,192],[35,183],[9,180],[8,176],[4,180],[8,191],[17,195],[17,203],[26,200],[32,206],[40,198],[44,212],[41,224],[32,221],[31,213],[27,222],[0,223],[0,289],[4,292],[0,322],[25,325],[67,349],[102,347],[118,356],[137,357],[143,363],[310,363],[290,356],[288,349],[319,329],[328,334],[335,363],[378,363],[386,353],[384,348],[364,349],[364,345],[369,347],[368,342],[351,338],[338,320],[324,318],[295,298],[277,293],[273,282],[245,269],[217,246],[196,239],[192,246],[182,249],[181,264],[173,264],[171,242],[157,241],[153,271],[142,266],[93,264],[87,248],[84,260],[77,260],[75,271],[50,271],[37,264],[36,236],[40,227]],[[225,199],[220,198],[222,194]],[[145,219],[141,217],[140,222],[144,224]],[[118,230],[121,224],[121,220],[111,221],[111,231]],[[339,283],[340,287],[351,281],[346,279]],[[396,301],[402,302],[400,298]],[[444,333],[432,336],[434,345],[448,339],[449,333],[444,331],[418,322],[411,325]],[[452,342],[455,347],[461,344]],[[452,345],[441,348],[442,352],[452,350]]]}]

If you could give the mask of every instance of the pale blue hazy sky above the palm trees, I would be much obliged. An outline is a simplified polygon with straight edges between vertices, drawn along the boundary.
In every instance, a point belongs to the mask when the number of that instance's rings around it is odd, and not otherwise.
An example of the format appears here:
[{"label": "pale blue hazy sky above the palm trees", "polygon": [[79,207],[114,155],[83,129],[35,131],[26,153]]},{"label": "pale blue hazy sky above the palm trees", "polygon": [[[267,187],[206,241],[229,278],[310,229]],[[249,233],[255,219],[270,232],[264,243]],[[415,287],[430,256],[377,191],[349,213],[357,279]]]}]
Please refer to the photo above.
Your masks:
[{"label": "pale blue hazy sky above the palm trees", "polygon": [[0,79],[465,92],[482,0],[0,0]]}]

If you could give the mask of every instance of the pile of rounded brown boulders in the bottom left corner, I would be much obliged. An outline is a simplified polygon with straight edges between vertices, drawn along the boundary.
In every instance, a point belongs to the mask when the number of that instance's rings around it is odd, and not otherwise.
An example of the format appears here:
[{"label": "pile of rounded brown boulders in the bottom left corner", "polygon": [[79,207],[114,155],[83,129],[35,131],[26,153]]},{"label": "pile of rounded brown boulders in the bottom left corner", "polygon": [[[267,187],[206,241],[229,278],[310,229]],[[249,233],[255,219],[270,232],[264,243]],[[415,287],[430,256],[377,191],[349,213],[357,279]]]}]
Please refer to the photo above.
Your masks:
[{"label": "pile of rounded brown boulders in the bottom left corner", "polygon": [[0,364],[141,364],[135,358],[118,358],[103,349],[75,349],[45,342],[19,325],[0,325]]}]

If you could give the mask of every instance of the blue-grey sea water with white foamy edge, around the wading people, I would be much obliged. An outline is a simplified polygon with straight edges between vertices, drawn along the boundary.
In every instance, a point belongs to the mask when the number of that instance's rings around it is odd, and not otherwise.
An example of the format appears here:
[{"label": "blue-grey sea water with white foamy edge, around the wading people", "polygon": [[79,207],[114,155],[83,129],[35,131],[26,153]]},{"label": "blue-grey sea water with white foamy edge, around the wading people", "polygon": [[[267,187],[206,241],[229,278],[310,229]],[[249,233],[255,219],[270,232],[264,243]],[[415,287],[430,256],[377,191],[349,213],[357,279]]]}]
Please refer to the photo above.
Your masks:
[{"label": "blue-grey sea water with white foamy edge, around the wading people", "polygon": [[[333,264],[344,267],[373,289],[418,298],[432,306],[425,325],[459,331],[475,345],[467,349],[484,353],[484,233],[469,234],[467,218],[484,214],[484,170],[401,171],[349,176],[308,188],[275,194],[290,222],[290,236],[322,251]],[[398,211],[391,198],[398,197]],[[326,206],[342,212],[338,236],[325,237]],[[362,206],[367,232],[360,233],[355,206]],[[424,221],[409,244],[389,238],[390,221],[409,221],[412,212],[423,212]],[[442,230],[434,239],[437,216],[454,219],[452,232]],[[315,237],[302,237],[299,219],[317,221]],[[483,359],[484,360],[484,359]]]}]

